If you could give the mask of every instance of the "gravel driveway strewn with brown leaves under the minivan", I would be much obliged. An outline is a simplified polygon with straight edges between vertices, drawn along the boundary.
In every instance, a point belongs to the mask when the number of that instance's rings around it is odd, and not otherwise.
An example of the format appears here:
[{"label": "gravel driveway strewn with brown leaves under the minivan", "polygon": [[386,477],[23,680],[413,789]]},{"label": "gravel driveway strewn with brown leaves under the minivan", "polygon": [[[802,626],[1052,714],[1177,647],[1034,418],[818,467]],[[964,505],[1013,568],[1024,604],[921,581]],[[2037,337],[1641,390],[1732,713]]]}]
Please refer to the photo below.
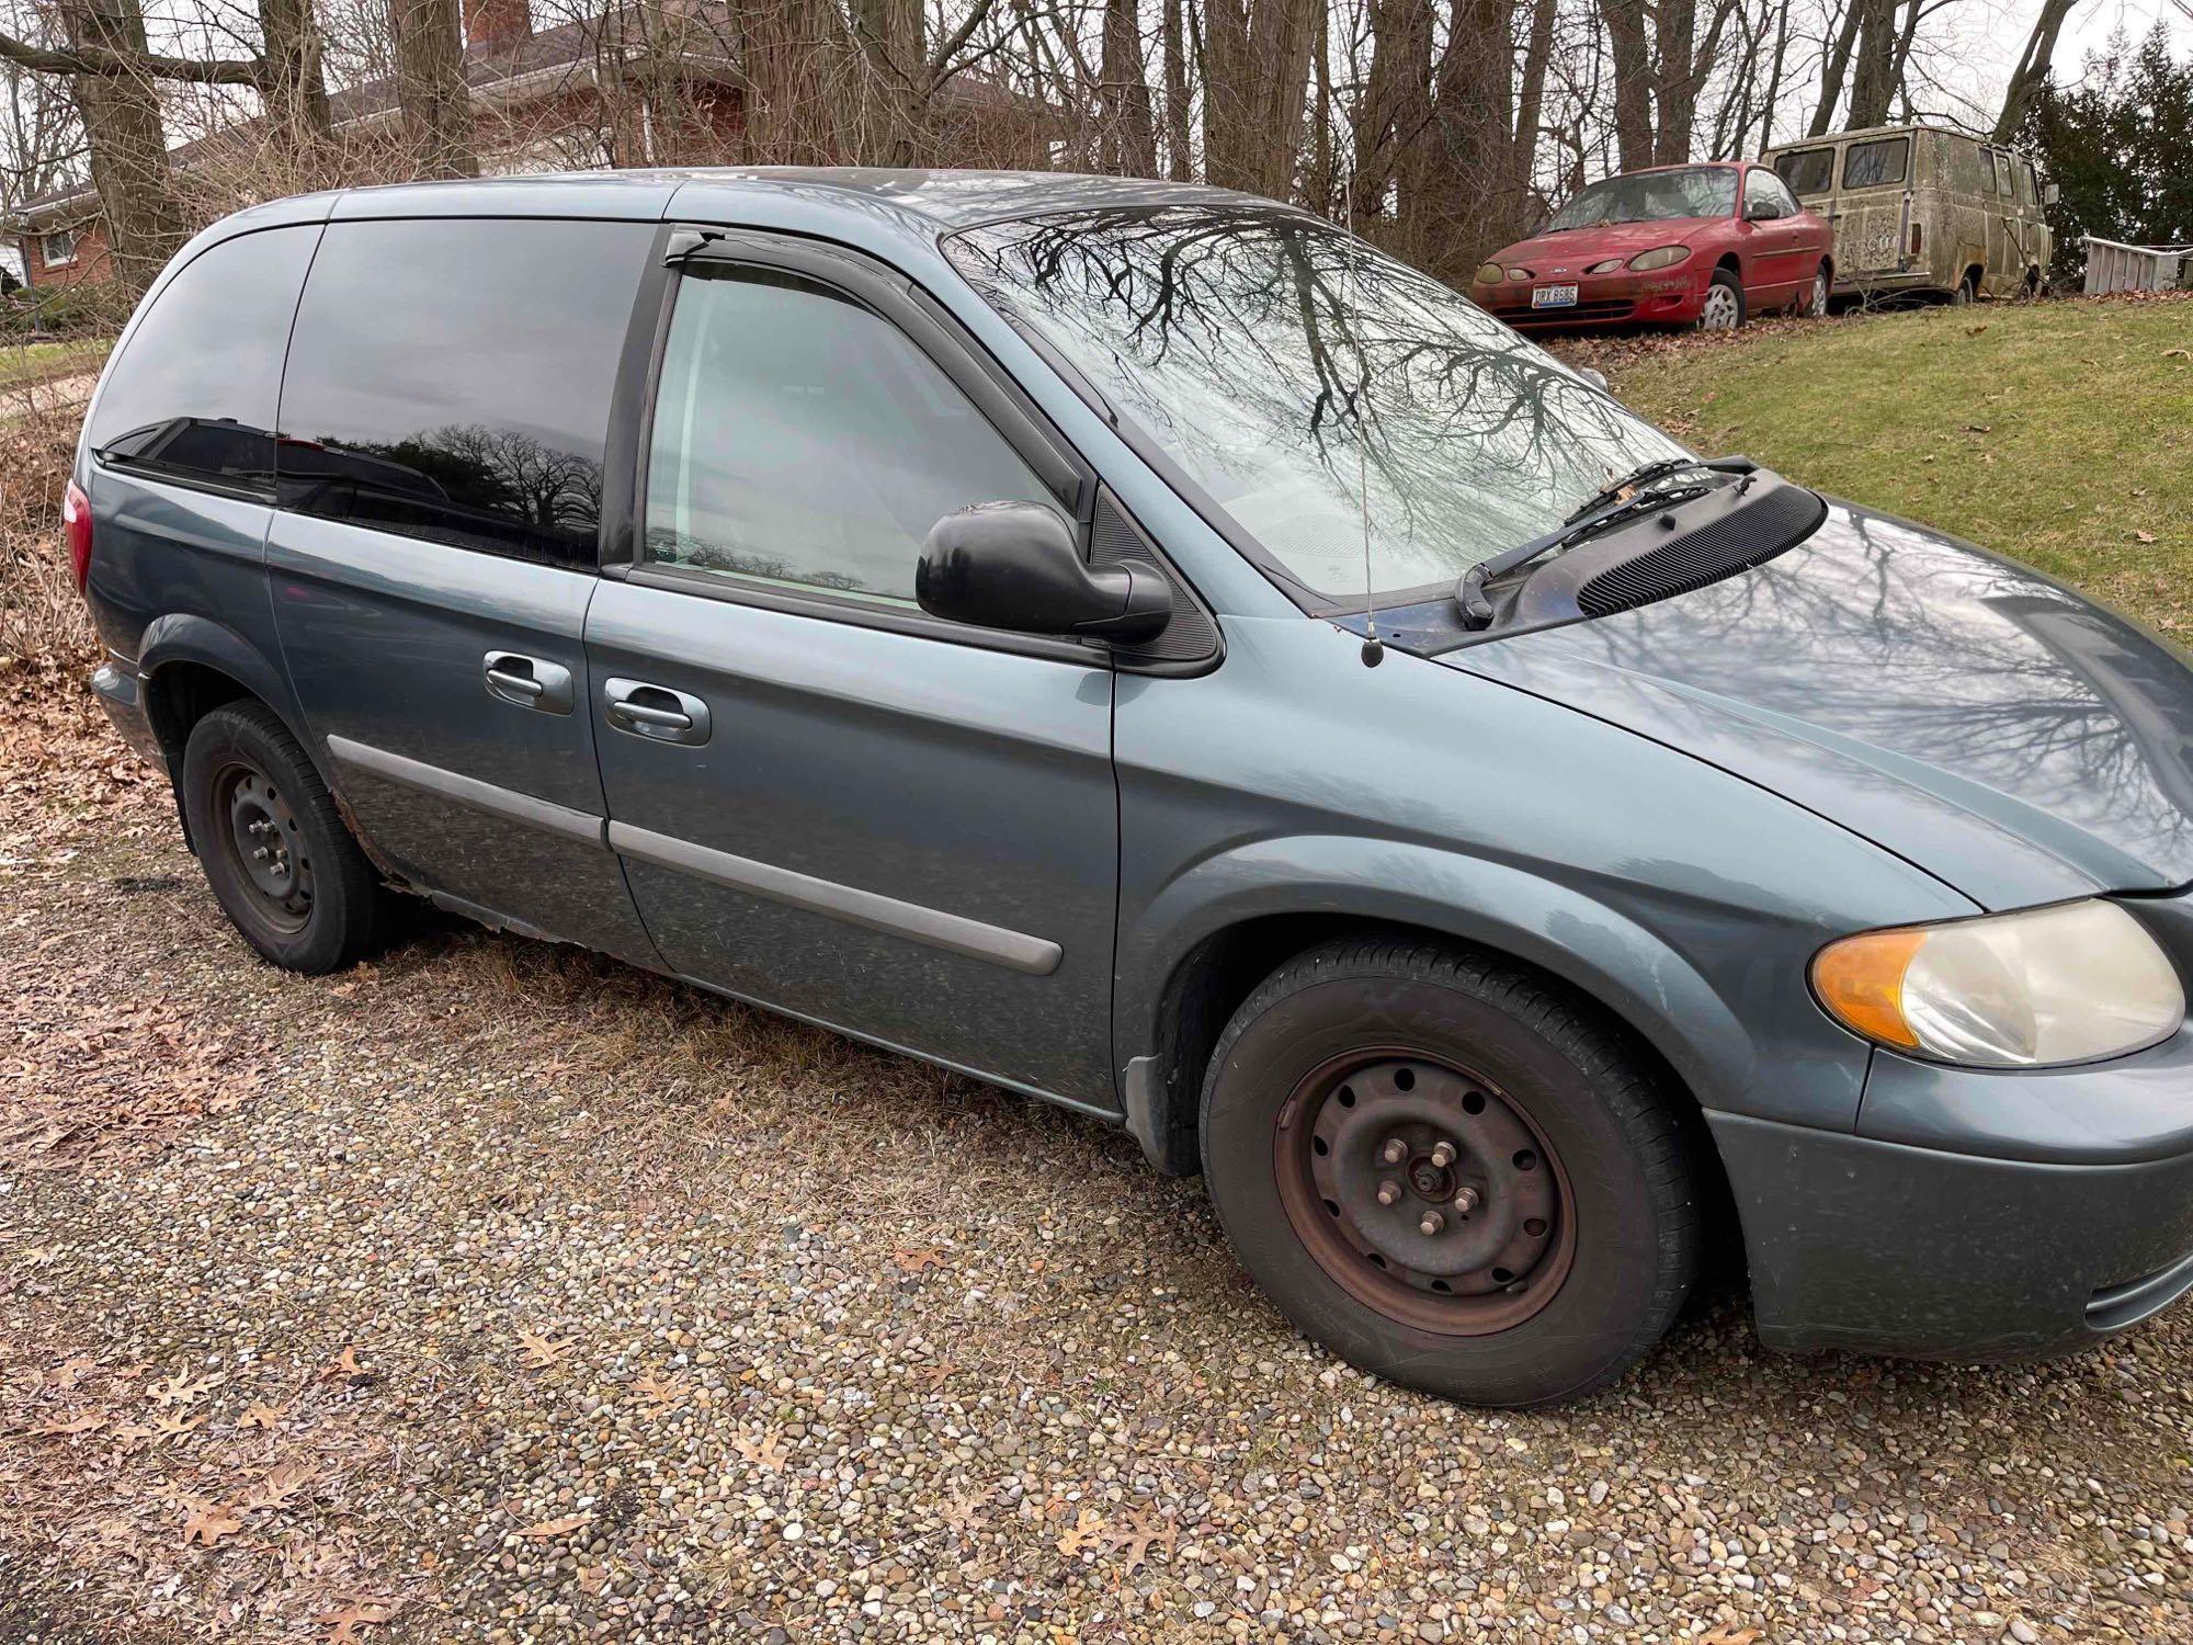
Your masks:
[{"label": "gravel driveway strewn with brown leaves under the minivan", "polygon": [[257,963],[26,695],[4,1641],[2193,1638],[2186,1309],[1969,1371],[1722,1298],[1443,1406],[1096,1123],[469,928]]}]

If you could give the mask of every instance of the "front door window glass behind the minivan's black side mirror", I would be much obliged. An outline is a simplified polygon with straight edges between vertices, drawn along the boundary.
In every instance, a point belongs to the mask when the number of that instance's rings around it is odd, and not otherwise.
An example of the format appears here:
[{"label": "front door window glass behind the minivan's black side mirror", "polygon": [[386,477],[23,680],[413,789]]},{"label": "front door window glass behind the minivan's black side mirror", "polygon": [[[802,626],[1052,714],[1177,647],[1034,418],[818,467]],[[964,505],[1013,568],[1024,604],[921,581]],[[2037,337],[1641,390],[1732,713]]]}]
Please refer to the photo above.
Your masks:
[{"label": "front door window glass behind the minivan's black side mirror", "polygon": [[1046,498],[873,309],[759,268],[680,283],[647,454],[647,559],[910,605],[943,515]]}]

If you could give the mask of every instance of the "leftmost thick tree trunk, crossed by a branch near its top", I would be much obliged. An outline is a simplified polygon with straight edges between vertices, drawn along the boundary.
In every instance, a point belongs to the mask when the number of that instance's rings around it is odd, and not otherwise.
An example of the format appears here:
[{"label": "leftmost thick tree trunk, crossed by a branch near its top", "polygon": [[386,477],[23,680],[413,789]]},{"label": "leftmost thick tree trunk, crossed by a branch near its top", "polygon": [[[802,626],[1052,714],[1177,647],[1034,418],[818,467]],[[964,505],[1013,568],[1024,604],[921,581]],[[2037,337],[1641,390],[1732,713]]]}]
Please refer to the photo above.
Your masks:
[{"label": "leftmost thick tree trunk, crossed by a branch near its top", "polygon": [[[61,20],[72,46],[145,50],[138,0],[68,0]],[[138,75],[77,75],[72,92],[114,272],[125,287],[143,292],[184,239],[158,92]]]}]

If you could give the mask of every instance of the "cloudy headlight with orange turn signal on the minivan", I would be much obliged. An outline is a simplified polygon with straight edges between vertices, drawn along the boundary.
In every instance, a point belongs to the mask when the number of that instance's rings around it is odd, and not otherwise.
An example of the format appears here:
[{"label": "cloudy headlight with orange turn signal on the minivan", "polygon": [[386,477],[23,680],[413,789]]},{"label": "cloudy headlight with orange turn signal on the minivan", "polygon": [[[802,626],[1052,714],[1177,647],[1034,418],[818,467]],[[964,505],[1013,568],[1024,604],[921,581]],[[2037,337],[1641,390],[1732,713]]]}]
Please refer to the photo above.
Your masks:
[{"label": "cloudy headlight with orange turn signal on the minivan", "polygon": [[1811,987],[1853,1033],[1969,1068],[2121,1057],[2186,1013],[2178,969],[2110,901],[1844,937]]}]

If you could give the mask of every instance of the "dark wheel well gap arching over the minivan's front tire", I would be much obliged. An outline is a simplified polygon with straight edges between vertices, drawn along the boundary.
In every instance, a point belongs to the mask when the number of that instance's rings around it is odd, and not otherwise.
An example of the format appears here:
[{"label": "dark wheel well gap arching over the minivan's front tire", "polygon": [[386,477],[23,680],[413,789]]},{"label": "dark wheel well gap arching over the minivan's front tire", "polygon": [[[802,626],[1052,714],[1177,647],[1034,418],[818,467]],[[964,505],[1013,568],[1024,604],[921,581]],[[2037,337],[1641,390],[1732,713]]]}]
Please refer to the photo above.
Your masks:
[{"label": "dark wheel well gap arching over the minivan's front tire", "polygon": [[1702,1206],[1708,1239],[1708,1261],[1732,1263],[1732,1272],[1717,1279],[1741,1283],[1743,1233],[1737,1219],[1735,1198],[1722,1169],[1722,1152],[1706,1130],[1706,1114],[1689,1081],[1675,1073],[1673,1064],[1618,1011],[1579,989],[1575,983],[1555,976],[1542,965],[1518,958],[1485,943],[1472,943],[1452,932],[1430,926],[1414,926],[1393,919],[1362,919],[1353,915],[1265,915],[1228,926],[1206,937],[1173,967],[1158,1007],[1158,1079],[1154,1094],[1162,1101],[1160,1123],[1151,1127],[1160,1147],[1145,1141],[1154,1162],[1175,1173],[1193,1173],[1202,1167],[1202,1094],[1211,1053],[1226,1031],[1232,1013],[1257,991],[1272,972],[1289,958],[1318,943],[1342,937],[1412,937],[1439,943],[1450,950],[1472,950],[1489,954],[1502,965],[1531,972],[1546,989],[1566,996],[1579,1009],[1601,1018],[1625,1044],[1629,1055],[1649,1068],[1662,1090],[1675,1099],[1682,1119],[1684,1145],[1697,1171],[1697,1182],[1706,1204]]}]

